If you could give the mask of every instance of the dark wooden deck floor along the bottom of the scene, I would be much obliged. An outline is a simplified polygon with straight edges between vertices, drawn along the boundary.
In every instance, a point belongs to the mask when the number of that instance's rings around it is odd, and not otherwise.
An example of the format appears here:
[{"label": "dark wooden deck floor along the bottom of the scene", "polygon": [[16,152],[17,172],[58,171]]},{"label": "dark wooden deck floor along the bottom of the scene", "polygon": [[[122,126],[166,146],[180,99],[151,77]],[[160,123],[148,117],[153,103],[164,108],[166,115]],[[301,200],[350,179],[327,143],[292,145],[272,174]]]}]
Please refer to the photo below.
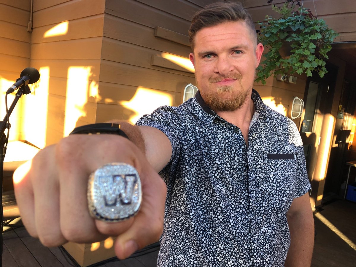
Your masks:
[{"label": "dark wooden deck floor along the bottom of the scene", "polygon": [[[325,205],[315,217],[313,267],[356,266],[356,203],[337,200]],[[47,248],[24,227],[3,234],[3,267],[72,267],[78,266],[59,247]],[[95,267],[154,267],[158,250],[148,250],[123,261],[99,263]],[[142,254],[142,253],[141,253]],[[94,266],[93,266],[94,267]]]}]

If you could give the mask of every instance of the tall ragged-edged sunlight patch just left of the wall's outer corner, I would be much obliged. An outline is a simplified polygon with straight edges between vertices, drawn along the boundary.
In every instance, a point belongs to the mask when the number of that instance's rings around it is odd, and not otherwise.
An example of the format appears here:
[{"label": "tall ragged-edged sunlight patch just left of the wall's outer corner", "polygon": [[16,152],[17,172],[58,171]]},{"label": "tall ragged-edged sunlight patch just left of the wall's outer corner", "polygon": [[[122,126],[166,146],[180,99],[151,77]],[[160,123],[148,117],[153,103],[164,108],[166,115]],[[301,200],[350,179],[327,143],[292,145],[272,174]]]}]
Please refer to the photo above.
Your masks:
[{"label": "tall ragged-edged sunlight patch just left of the wall's outer corner", "polygon": [[[63,136],[69,133],[76,127],[80,117],[86,117],[85,104],[91,93],[96,94],[98,87],[95,82],[89,81],[92,76],[92,67],[69,67],[67,81],[67,98],[66,112],[64,115],[64,133]],[[89,84],[90,82],[90,84]]]}]

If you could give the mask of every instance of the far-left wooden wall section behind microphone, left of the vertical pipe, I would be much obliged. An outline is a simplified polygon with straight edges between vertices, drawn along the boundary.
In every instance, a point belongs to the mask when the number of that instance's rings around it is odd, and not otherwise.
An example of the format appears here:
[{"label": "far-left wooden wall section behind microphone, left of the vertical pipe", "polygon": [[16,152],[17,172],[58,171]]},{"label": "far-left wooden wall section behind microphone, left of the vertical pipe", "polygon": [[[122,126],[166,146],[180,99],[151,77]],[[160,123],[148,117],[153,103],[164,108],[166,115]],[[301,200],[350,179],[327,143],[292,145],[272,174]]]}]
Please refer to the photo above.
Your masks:
[{"label": "far-left wooden wall section behind microphone, left of the vertical pipe", "polygon": [[[5,117],[5,92],[21,71],[30,66],[31,34],[27,32],[30,20],[30,0],[0,0],[0,120]],[[8,97],[10,106],[15,94]],[[22,99],[19,100],[10,123],[10,139],[19,139],[22,129]]]}]

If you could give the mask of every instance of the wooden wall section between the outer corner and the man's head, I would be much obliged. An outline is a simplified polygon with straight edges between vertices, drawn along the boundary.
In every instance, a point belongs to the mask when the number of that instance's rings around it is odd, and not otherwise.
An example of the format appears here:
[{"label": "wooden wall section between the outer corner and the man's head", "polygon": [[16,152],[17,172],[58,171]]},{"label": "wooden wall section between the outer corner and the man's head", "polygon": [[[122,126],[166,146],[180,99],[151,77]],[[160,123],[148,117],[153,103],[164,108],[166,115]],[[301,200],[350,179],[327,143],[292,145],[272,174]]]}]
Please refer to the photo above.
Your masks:
[{"label": "wooden wall section between the outer corner and the man's head", "polygon": [[[194,73],[162,53],[188,59],[190,20],[209,2],[213,1],[106,0],[98,122],[135,122],[158,106],[182,103],[185,85],[195,84]],[[163,36],[155,36],[157,27],[163,28]]]}]

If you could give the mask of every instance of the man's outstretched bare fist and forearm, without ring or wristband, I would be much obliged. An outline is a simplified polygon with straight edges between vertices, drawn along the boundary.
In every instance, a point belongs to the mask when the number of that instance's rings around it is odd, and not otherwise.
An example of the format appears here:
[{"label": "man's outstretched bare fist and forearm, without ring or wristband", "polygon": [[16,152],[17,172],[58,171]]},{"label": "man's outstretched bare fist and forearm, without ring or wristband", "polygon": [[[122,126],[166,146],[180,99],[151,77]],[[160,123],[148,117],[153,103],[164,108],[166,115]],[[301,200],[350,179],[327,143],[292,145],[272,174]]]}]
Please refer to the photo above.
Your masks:
[{"label": "man's outstretched bare fist and forearm, without ring or wristband", "polygon": [[[16,170],[16,200],[30,235],[46,246],[67,241],[97,242],[118,236],[115,252],[119,258],[158,240],[163,227],[166,184],[157,171],[169,161],[171,144],[152,127],[121,123],[121,129],[131,141],[110,134],[71,135],[41,150]],[[142,185],[140,211],[118,223],[91,218],[87,203],[90,173],[111,162],[134,166]]]}]

